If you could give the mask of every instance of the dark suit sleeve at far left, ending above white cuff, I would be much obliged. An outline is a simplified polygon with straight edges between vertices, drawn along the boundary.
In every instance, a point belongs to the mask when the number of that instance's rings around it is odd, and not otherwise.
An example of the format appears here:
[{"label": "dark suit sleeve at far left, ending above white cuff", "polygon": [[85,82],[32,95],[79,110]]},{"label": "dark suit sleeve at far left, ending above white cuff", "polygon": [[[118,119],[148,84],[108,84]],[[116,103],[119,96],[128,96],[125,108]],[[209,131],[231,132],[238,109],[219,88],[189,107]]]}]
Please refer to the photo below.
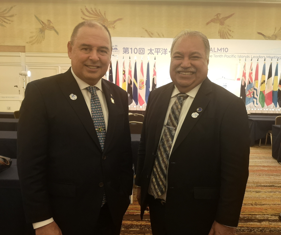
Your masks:
[{"label": "dark suit sleeve at far left, ending above white cuff", "polygon": [[46,185],[48,117],[38,87],[29,83],[17,128],[17,167],[28,223],[53,217]]}]

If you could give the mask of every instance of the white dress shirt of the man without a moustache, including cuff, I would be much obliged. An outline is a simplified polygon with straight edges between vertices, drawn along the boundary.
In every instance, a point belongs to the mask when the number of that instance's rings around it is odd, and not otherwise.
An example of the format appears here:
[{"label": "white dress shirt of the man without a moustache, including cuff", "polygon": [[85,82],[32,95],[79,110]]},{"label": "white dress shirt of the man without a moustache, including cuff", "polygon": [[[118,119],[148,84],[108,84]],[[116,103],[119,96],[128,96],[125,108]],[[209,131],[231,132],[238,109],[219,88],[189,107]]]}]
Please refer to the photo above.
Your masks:
[{"label": "white dress shirt of the man without a moustache, including cuff", "polygon": [[[86,101],[86,104],[88,106],[88,109],[89,109],[89,112],[90,114],[92,115],[91,113],[91,92],[89,92],[87,90],[87,87],[90,86],[89,84],[85,83],[84,81],[82,81],[80,78],[78,78],[72,68],[71,68],[71,72],[72,72],[72,75],[74,76],[75,80],[77,81],[77,84],[82,92],[82,95]],[[101,80],[102,78],[97,82],[97,84],[95,84],[94,86],[97,87],[96,88],[96,91],[97,91],[97,96],[99,97],[99,100],[100,100],[100,106],[101,106],[101,109],[103,110],[103,119],[104,119],[104,124],[106,126],[106,130],[107,130],[107,123],[108,123],[108,109],[107,109],[107,104],[106,104],[106,99],[105,99],[105,96],[104,96],[104,93],[103,93],[103,88],[101,86]],[[70,94],[69,94],[70,95]],[[75,94],[74,94],[75,95]],[[41,222],[37,222],[37,223],[33,223],[33,228],[40,228],[44,225],[47,225],[51,222],[53,222],[54,219],[51,218],[51,219],[47,219],[47,220],[44,220],[44,221],[41,221]]]}]

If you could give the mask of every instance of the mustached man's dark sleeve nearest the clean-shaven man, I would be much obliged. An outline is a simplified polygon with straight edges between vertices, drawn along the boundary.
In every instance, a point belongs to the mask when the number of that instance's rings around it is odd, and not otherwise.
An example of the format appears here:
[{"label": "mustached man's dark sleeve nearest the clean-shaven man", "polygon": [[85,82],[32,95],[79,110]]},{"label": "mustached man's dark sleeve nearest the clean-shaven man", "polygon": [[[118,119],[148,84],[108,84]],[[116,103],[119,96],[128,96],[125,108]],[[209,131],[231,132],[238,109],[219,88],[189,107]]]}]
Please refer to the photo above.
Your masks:
[{"label": "mustached man's dark sleeve nearest the clean-shaven man", "polygon": [[146,153],[146,116],[149,109],[149,101],[150,101],[151,92],[149,93],[145,114],[143,118],[143,127],[141,130],[141,140],[140,145],[138,148],[138,164],[137,164],[137,172],[136,172],[136,178],[135,178],[135,185],[141,187],[141,172],[143,170],[144,165],[144,159],[145,159],[145,153]]}]

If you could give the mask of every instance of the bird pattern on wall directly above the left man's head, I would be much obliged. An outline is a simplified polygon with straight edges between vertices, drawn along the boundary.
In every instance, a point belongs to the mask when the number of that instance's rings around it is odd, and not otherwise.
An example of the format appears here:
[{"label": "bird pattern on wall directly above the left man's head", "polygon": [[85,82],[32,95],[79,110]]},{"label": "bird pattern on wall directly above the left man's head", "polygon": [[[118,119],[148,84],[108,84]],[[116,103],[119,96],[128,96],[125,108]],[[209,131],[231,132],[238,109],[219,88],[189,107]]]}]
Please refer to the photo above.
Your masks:
[{"label": "bird pattern on wall directly above the left man's head", "polygon": [[114,21],[108,20],[108,19],[106,18],[106,13],[105,13],[105,11],[104,11],[104,16],[103,16],[103,14],[100,12],[100,9],[99,9],[99,12],[97,11],[96,8],[94,8],[94,9],[95,9],[95,10],[93,10],[93,9],[91,8],[91,11],[89,11],[88,8],[85,6],[85,10],[86,10],[86,12],[89,14],[89,16],[86,15],[82,9],[80,9],[80,10],[81,10],[81,13],[82,13],[85,17],[88,17],[88,18],[89,18],[89,19],[86,19],[86,18],[84,18],[84,17],[81,17],[81,19],[83,19],[83,20],[94,20],[94,21],[97,21],[98,23],[105,25],[105,26],[108,27],[109,29],[115,29],[115,23],[116,23],[117,21],[123,20],[123,18],[118,18],[118,19],[116,19],[116,20],[114,20]]}]

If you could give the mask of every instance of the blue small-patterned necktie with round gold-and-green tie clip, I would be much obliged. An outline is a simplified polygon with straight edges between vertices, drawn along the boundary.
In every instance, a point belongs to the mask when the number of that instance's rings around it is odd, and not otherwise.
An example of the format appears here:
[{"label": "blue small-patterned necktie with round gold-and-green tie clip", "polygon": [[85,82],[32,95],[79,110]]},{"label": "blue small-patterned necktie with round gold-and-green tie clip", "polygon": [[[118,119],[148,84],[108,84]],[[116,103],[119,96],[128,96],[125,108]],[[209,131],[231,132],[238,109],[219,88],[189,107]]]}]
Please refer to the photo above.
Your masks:
[{"label": "blue small-patterned necktie with round gold-and-green tie clip", "polygon": [[[97,137],[99,138],[100,147],[103,150],[104,148],[104,140],[106,137],[106,129],[103,118],[103,110],[100,105],[100,99],[97,96],[97,91],[95,86],[88,86],[87,90],[91,93],[91,114],[94,122],[94,126],[97,132]],[[102,205],[106,203],[106,194],[103,194],[103,202]]]}]

